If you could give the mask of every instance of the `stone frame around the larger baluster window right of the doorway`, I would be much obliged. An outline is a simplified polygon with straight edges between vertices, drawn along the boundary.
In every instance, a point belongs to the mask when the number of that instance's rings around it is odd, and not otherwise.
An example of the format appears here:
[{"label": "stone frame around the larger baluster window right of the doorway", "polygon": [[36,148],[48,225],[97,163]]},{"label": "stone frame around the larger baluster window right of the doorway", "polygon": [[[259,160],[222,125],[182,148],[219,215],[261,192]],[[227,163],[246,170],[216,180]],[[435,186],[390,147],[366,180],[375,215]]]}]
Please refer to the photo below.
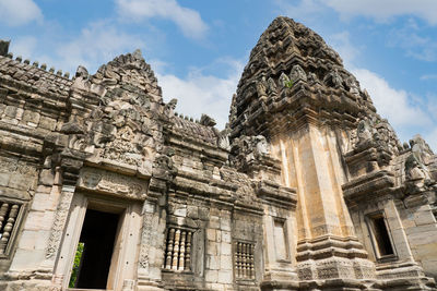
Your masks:
[{"label": "stone frame around the larger baluster window right of the doorway", "polygon": [[[179,270],[179,269],[173,269],[172,266],[170,268],[167,268],[166,265],[166,259],[167,259],[167,244],[168,244],[168,233],[170,229],[176,229],[176,230],[181,230],[181,231],[189,231],[191,232],[191,245],[190,245],[190,266],[189,269]],[[198,247],[196,245],[196,235],[198,234],[199,229],[190,228],[187,226],[178,226],[174,223],[168,223],[166,229],[165,229],[165,235],[164,235],[164,258],[163,258],[163,266],[162,266],[162,271],[164,272],[169,272],[169,274],[194,274],[194,260],[197,259],[198,255],[196,254],[196,251]],[[187,245],[186,245],[187,246]],[[186,257],[186,255],[185,255]]]}]

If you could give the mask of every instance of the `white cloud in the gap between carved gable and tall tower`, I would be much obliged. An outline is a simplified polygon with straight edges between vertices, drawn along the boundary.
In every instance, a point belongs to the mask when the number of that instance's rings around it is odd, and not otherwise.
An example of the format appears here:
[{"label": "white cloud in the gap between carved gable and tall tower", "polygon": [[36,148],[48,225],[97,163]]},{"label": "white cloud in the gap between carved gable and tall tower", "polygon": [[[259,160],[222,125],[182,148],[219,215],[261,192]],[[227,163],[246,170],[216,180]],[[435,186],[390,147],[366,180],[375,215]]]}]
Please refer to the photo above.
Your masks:
[{"label": "white cloud in the gap between carved gable and tall tower", "polygon": [[199,119],[202,113],[214,118],[218,129],[224,129],[228,119],[232,95],[243,71],[243,63],[235,60],[218,60],[229,68],[227,76],[221,78],[203,74],[202,70],[192,69],[184,78],[173,74],[157,73],[164,99],[178,99],[176,111]]}]

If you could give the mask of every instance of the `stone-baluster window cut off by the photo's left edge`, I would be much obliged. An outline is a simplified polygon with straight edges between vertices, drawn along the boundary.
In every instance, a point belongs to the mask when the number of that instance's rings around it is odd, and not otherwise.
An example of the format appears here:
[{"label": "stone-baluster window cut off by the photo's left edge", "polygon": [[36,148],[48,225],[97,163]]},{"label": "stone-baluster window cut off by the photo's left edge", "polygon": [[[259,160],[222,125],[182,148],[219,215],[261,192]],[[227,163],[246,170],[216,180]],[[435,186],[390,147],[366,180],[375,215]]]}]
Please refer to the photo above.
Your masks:
[{"label": "stone-baluster window cut off by the photo's left edge", "polygon": [[8,255],[20,217],[21,204],[0,201],[0,256]]}]

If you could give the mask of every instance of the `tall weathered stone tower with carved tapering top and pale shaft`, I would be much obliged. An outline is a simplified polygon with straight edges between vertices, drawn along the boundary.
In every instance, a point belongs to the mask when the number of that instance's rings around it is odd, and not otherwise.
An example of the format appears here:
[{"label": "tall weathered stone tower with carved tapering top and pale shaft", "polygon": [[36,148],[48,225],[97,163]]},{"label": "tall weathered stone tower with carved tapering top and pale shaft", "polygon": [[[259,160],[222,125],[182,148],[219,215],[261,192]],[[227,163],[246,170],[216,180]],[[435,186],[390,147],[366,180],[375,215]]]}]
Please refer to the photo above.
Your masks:
[{"label": "tall weathered stone tower with carved tapering top and pale shaft", "polygon": [[[380,211],[395,225],[401,222],[400,209],[392,204],[405,195],[399,184],[405,173],[399,172],[399,163],[408,147],[319,35],[291,19],[274,20],[250,53],[232,101],[229,124],[229,136],[237,143],[246,135],[267,137],[272,156],[281,161],[282,184],[296,189],[299,280],[357,288],[377,282],[380,274],[423,276],[411,251],[403,250],[408,243],[403,230],[392,234],[404,240],[397,243],[402,245],[398,250],[405,259],[402,265],[378,268],[358,240],[367,232],[361,229],[363,222],[371,223]],[[429,153],[427,145],[424,148]],[[435,192],[430,193],[427,204],[435,202]],[[374,217],[367,215],[369,208],[376,210]],[[430,207],[425,208],[424,217],[434,221]],[[367,221],[361,221],[366,215]],[[435,225],[429,230],[429,235],[437,234]],[[380,247],[374,240],[374,247]],[[437,246],[435,241],[430,245]],[[422,286],[420,280],[416,284]]]}]

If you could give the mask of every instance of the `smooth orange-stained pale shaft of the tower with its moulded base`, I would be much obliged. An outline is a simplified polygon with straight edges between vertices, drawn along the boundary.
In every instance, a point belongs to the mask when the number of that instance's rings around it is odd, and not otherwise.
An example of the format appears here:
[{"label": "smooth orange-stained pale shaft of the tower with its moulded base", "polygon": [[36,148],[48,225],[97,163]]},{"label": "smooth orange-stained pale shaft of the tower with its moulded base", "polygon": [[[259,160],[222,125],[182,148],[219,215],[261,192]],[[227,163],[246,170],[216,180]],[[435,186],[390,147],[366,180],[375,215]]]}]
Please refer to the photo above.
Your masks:
[{"label": "smooth orange-stained pale shaft of the tower with its moulded base", "polygon": [[286,186],[297,189],[299,279],[375,278],[344,203],[345,174],[333,132],[308,122],[272,145],[287,174]]}]

